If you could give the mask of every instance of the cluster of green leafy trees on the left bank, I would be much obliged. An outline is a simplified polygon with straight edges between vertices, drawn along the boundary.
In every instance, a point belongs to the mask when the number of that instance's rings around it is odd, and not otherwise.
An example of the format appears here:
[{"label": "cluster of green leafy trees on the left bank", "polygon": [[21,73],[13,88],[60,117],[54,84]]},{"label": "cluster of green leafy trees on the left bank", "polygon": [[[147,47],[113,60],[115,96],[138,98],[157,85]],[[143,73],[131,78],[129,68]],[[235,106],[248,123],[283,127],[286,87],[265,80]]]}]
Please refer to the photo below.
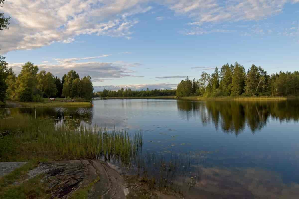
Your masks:
[{"label": "cluster of green leafy trees on the left bank", "polygon": [[93,85],[90,76],[80,79],[79,74],[71,70],[63,75],[62,80],[51,72],[27,62],[19,75],[8,69],[8,64],[0,62],[0,83],[2,102],[6,98],[17,101],[43,101],[43,97],[86,98],[92,97]]}]

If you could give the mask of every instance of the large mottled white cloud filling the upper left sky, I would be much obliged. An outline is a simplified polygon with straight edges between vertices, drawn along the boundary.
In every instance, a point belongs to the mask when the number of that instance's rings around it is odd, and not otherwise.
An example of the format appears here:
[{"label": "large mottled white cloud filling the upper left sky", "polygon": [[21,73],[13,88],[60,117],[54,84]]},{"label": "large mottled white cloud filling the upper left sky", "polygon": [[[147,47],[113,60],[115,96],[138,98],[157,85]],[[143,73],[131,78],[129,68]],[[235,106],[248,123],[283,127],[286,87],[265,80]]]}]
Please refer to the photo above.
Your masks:
[{"label": "large mottled white cloud filling the upper left sky", "polygon": [[70,43],[81,34],[129,39],[138,23],[130,16],[151,9],[141,0],[6,0],[0,10],[12,19],[0,33],[0,53]]}]

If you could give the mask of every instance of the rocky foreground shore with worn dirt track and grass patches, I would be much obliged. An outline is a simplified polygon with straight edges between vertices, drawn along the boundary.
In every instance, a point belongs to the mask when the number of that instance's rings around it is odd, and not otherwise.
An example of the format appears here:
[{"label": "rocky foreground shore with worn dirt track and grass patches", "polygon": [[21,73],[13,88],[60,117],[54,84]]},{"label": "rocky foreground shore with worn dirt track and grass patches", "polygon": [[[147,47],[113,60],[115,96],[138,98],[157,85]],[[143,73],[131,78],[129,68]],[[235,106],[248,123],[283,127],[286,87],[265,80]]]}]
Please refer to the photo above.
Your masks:
[{"label": "rocky foreground shore with worn dirt track and grass patches", "polygon": [[140,176],[127,175],[118,166],[92,159],[19,163],[0,176],[0,194],[4,198],[183,198]]}]

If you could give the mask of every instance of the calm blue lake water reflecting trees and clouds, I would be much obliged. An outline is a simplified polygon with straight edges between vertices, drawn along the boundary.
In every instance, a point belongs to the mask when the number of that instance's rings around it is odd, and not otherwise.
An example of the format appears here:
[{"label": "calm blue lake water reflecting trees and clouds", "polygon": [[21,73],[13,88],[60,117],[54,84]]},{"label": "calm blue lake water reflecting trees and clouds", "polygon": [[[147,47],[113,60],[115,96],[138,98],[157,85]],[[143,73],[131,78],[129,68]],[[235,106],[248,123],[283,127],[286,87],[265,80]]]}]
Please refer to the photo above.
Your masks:
[{"label": "calm blue lake water reflecting trees and clouds", "polygon": [[[135,164],[143,161],[149,175],[157,175],[161,160],[175,162],[175,173],[165,169],[165,181],[188,186],[190,198],[299,198],[299,101],[109,99],[93,104],[37,108],[37,117],[141,130],[143,152]],[[5,112],[34,115],[30,108]]]}]

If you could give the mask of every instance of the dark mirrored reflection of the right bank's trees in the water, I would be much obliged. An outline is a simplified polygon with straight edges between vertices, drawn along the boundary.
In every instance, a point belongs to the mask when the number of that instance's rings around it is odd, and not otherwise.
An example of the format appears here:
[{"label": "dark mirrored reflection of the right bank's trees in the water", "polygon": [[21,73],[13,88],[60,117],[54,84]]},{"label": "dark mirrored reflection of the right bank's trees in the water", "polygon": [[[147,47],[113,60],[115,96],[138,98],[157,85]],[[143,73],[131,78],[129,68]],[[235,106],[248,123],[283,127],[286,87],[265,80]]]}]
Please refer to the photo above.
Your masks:
[{"label": "dark mirrored reflection of the right bank's trees in the water", "polygon": [[236,102],[178,101],[179,114],[187,120],[200,119],[203,125],[213,123],[215,128],[238,135],[246,125],[254,133],[267,124],[269,118],[279,121],[299,120],[299,101]]}]

